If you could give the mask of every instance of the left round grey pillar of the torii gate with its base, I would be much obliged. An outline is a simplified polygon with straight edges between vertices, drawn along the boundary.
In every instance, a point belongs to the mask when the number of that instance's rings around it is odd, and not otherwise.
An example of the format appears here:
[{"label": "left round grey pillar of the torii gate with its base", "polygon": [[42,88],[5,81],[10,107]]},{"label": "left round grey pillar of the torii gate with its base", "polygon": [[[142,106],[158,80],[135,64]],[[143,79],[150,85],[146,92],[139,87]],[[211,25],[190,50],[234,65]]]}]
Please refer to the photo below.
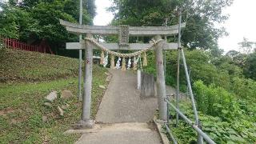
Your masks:
[{"label": "left round grey pillar of the torii gate with its base", "polygon": [[[86,38],[92,38],[92,34],[86,34]],[[90,119],[91,89],[93,79],[93,47],[86,41],[85,50],[85,77],[82,98],[82,120],[78,122],[77,128],[93,128],[94,121]]]}]

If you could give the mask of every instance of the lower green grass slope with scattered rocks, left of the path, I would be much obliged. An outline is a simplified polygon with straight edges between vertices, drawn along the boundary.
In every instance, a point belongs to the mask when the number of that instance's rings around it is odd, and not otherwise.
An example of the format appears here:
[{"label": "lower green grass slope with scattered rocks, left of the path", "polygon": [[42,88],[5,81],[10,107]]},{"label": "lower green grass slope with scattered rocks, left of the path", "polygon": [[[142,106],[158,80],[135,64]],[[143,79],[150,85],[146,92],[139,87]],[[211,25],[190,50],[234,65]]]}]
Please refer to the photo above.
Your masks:
[{"label": "lower green grass slope with scattered rocks, left of the path", "polygon": [[[92,91],[92,116],[97,112],[106,85],[106,70],[94,67]],[[79,134],[63,134],[81,114],[81,102],[77,100],[78,78],[58,79],[50,82],[0,84],[0,142],[1,143],[74,143]],[[71,90],[73,98],[54,100],[52,107],[43,106],[44,97],[52,90],[60,93]],[[59,96],[59,94],[58,94]],[[68,104],[64,116],[57,106]]]}]

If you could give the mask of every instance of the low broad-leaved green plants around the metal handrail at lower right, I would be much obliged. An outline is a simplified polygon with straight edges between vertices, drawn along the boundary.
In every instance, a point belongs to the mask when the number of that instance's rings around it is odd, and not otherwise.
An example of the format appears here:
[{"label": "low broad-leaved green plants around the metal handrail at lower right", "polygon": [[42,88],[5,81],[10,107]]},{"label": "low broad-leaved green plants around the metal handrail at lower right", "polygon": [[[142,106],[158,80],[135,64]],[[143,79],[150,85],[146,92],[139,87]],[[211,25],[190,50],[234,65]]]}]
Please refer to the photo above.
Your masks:
[{"label": "low broad-leaved green plants around the metal handrail at lower right", "polygon": [[[174,103],[174,100],[171,100]],[[191,106],[191,102],[188,99],[182,99],[179,102],[180,110],[187,118],[194,121],[194,112]],[[240,108],[238,108],[240,107]],[[232,120],[228,114],[225,117],[211,116],[210,114],[204,114],[199,111],[199,120],[202,123],[202,130],[210,136],[216,143],[254,143],[256,142],[255,126],[256,123],[253,120],[253,114],[246,114],[246,110],[243,110],[242,105],[237,106],[237,110],[233,106],[233,110],[230,113],[234,113]],[[215,109],[219,109],[218,106]],[[239,109],[239,110],[238,110]],[[252,107],[252,109],[254,109]],[[235,111],[238,111],[236,113]],[[222,114],[223,110],[219,110]],[[178,127],[175,126],[175,111],[170,109],[171,121],[170,130],[174,134],[178,143],[197,143],[197,133],[192,129],[182,118],[180,118]],[[231,119],[231,118],[230,118]],[[167,134],[168,135],[168,134]]]}]

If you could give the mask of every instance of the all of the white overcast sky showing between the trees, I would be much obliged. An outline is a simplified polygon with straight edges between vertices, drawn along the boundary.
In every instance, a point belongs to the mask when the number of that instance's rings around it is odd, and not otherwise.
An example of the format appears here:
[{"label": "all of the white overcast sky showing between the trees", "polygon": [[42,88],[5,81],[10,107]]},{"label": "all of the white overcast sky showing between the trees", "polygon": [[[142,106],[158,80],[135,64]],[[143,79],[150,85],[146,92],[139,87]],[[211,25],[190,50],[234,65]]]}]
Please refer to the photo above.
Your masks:
[{"label": "all of the white overcast sky showing between the trees", "polygon": [[[95,3],[97,16],[94,25],[107,25],[113,18],[111,13],[106,12],[106,8],[111,6],[110,0],[96,0]],[[256,0],[234,0],[234,4],[226,8],[224,13],[230,14],[229,20],[222,24],[230,35],[219,39],[221,49],[226,52],[238,50],[238,42],[242,42],[243,37],[256,42]]]}]

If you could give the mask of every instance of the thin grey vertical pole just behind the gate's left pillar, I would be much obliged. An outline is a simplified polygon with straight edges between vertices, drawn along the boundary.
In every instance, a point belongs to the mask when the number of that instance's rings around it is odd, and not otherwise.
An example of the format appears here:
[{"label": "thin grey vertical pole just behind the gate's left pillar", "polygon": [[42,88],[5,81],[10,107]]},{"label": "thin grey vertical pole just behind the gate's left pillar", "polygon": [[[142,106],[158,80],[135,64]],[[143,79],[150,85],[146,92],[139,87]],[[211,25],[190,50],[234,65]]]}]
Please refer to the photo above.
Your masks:
[{"label": "thin grey vertical pole just behind the gate's left pillar", "polygon": [[[82,25],[82,0],[80,0],[79,24]],[[79,34],[79,42],[82,42],[82,34]],[[82,101],[82,50],[79,49],[79,72],[78,72],[78,99]]]}]

